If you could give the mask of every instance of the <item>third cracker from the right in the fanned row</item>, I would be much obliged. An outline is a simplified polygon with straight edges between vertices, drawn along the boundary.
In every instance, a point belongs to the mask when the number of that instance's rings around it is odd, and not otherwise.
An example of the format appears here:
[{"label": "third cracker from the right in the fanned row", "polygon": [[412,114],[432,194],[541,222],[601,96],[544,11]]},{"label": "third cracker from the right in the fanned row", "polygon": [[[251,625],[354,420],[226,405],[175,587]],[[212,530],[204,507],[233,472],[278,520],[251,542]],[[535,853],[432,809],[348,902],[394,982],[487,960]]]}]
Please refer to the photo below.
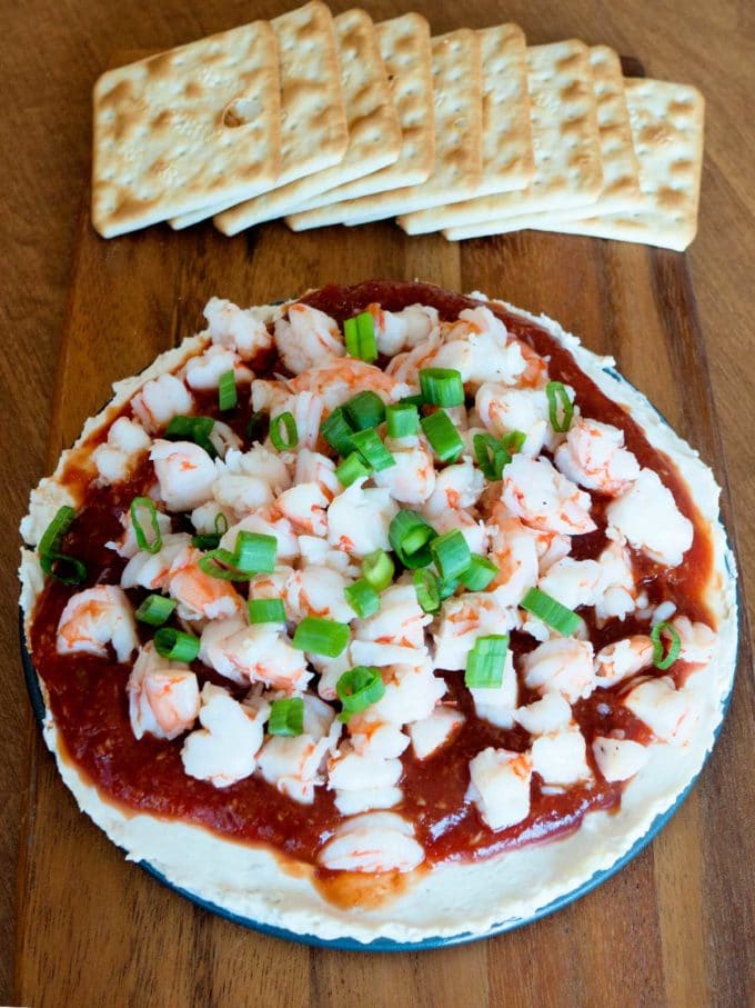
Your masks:
[{"label": "third cracker from the right in the fanned row", "polygon": [[475,226],[491,220],[585,206],[600,196],[603,169],[587,47],[570,39],[527,49],[527,86],[535,151],[532,183],[439,208],[437,229],[469,228],[473,236]]}]

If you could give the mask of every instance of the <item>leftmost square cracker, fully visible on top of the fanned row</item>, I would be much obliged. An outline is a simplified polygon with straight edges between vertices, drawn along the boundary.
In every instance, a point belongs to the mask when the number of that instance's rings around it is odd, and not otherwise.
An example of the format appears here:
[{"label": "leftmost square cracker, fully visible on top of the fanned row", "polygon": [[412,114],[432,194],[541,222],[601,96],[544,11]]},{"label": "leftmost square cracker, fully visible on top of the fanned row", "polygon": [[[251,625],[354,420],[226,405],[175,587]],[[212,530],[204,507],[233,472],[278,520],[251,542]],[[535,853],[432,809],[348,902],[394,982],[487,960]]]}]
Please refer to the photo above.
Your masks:
[{"label": "leftmost square cracker, fully visible on top of the fanned row", "polygon": [[275,36],[254,21],[109,70],[93,111],[104,238],[261,192],[280,170]]}]

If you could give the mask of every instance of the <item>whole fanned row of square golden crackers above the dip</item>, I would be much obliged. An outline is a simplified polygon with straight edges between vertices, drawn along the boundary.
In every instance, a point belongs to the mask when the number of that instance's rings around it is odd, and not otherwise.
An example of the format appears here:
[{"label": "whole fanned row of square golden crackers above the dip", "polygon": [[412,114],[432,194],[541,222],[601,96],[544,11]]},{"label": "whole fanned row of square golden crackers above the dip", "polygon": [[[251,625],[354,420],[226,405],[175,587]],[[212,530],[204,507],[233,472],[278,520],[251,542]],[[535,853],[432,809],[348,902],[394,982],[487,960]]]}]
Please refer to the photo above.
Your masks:
[{"label": "whole fanned row of square golden crackers above the dip", "polygon": [[212,218],[224,234],[395,217],[451,240],[532,228],[685,249],[703,98],[626,79],[515,24],[431,37],[320,0],[110,70],[94,88],[92,219],[105,238]]}]

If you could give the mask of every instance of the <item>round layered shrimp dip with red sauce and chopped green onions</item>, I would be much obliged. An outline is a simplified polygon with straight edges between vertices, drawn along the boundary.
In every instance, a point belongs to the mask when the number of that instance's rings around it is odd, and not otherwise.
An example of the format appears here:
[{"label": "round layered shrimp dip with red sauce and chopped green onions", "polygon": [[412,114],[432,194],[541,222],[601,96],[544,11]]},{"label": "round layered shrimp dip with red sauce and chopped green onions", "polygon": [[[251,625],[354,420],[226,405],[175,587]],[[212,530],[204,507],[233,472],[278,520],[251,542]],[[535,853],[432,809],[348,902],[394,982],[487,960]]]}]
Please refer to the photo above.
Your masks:
[{"label": "round layered shrimp dip with red sauce and chopped green onions", "polygon": [[322,937],[480,931],[610,867],[729,690],[709,470],[611,362],[480,295],[204,315],[22,523],[82,808],[172,881]]}]

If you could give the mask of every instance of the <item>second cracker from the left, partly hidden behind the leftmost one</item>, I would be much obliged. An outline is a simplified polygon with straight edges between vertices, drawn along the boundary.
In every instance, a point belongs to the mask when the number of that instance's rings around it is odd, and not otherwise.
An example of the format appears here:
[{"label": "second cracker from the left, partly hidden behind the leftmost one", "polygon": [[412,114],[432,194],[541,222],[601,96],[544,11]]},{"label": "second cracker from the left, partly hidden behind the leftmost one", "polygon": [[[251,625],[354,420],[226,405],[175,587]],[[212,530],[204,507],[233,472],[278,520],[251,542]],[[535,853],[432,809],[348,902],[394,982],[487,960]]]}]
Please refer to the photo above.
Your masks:
[{"label": "second cracker from the left, partly hidden behind the leftmost one", "polygon": [[[330,10],[320,0],[312,0],[270,24],[280,50],[281,169],[265,192],[338,164],[349,143]],[[170,223],[173,228],[187,227],[229,207],[235,209],[238,203],[218,201],[205,213],[188,214]]]}]

